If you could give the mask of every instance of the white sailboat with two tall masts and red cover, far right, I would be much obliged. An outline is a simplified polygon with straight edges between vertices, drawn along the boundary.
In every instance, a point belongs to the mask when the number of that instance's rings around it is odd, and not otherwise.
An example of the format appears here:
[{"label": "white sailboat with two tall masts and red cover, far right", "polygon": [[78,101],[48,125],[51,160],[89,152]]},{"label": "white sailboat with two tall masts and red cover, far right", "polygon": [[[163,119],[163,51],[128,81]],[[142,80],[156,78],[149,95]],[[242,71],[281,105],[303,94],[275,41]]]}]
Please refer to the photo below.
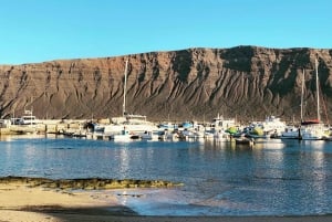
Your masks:
[{"label": "white sailboat with two tall masts and red cover, far right", "polygon": [[[304,71],[303,71],[304,82]],[[320,110],[320,95],[319,95],[319,75],[318,75],[318,60],[315,59],[315,86],[317,86],[317,119],[304,120],[303,119],[303,84],[302,84],[302,97],[301,97],[301,127],[300,138],[302,140],[320,140],[328,137],[328,128],[321,123]]]}]

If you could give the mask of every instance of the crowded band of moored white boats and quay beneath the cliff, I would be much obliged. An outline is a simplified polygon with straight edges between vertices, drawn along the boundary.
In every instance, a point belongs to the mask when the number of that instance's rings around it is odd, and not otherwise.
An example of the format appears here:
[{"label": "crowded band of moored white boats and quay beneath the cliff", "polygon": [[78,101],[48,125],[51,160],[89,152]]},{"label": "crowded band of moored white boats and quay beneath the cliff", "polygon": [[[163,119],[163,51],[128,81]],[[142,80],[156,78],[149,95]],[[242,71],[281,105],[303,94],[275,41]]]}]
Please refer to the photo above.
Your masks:
[{"label": "crowded band of moored white boats and quay beneath the cliff", "polygon": [[[280,138],[331,140],[331,128],[317,121],[293,125],[268,116],[263,121],[238,124],[234,118],[217,116],[210,123],[152,123],[146,116],[128,115],[111,119],[35,119],[33,124],[15,124],[0,119],[0,136],[54,134],[72,138],[102,140],[231,140],[239,138]],[[308,125],[313,125],[308,128]]]}]

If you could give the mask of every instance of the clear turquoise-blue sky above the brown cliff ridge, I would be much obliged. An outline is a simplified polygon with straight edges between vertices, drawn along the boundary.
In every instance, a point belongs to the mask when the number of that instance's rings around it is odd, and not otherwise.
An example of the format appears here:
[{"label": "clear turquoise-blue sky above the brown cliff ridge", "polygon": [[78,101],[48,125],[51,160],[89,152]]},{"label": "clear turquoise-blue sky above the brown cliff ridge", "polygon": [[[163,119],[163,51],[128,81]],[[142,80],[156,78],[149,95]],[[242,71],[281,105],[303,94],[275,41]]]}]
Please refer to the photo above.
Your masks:
[{"label": "clear turquoise-blue sky above the brown cliff ridge", "polygon": [[188,47],[332,49],[331,0],[0,0],[0,64]]}]

